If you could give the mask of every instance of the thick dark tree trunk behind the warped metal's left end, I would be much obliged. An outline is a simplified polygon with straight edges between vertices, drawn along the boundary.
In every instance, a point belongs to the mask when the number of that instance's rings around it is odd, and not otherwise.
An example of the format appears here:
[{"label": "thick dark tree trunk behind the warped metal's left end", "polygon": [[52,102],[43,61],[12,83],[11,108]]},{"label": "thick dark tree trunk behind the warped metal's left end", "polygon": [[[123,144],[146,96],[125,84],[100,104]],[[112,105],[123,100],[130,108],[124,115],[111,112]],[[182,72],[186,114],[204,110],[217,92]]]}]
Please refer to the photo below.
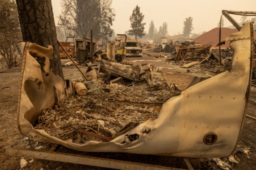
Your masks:
[{"label": "thick dark tree trunk behind the warped metal's left end", "polygon": [[63,78],[51,0],[16,0],[16,4],[23,41],[52,45],[50,68]]}]

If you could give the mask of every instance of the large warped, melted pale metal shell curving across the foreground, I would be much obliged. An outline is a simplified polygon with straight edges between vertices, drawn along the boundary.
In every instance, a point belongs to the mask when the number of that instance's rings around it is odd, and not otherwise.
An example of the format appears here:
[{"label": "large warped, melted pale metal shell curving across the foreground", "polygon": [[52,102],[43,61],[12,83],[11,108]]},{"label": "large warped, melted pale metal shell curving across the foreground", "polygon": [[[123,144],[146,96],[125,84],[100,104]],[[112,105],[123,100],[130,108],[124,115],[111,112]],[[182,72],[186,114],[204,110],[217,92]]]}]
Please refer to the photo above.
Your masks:
[{"label": "large warped, melted pale metal shell curving across the foreground", "polygon": [[[236,146],[245,117],[252,74],[252,36],[251,23],[245,23],[240,32],[224,38],[222,41],[230,41],[229,46],[234,50],[231,70],[201,81],[170,98],[162,105],[157,119],[147,120],[110,142],[90,141],[81,145],[72,143],[71,139],[62,140],[44,130],[33,129],[41,109],[53,106],[55,98],[60,102],[65,97],[65,87],[60,77],[49,72],[49,57],[46,57],[44,71],[41,71],[40,65],[30,55],[36,52],[38,56],[48,56],[50,50],[38,47],[39,51],[36,51],[28,43],[24,46],[18,103],[20,132],[34,137],[36,141],[86,152],[226,157]],[[48,54],[44,52],[42,55],[41,50]],[[109,69],[109,72],[114,70]],[[49,75],[45,76],[45,72]],[[129,76],[135,78],[134,75]]]}]

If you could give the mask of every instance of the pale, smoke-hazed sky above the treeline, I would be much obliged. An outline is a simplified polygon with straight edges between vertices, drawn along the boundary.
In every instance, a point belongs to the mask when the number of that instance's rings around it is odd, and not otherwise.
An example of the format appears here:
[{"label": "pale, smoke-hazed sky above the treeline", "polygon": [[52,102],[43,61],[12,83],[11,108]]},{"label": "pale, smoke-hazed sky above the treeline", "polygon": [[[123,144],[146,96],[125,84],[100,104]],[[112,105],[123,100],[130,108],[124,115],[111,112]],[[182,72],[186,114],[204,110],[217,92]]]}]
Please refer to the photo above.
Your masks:
[{"label": "pale, smoke-hazed sky above the treeline", "polygon": [[[51,0],[51,2],[57,24],[57,16],[61,13],[60,0]],[[116,34],[130,29],[129,16],[136,5],[144,14],[146,32],[151,20],[154,21],[157,30],[166,21],[169,35],[182,33],[183,21],[189,16],[193,18],[192,33],[201,33],[217,27],[222,9],[256,11],[256,0],[113,0],[115,20],[112,28]],[[232,16],[240,21],[240,16]],[[231,25],[224,17],[224,27]]]}]

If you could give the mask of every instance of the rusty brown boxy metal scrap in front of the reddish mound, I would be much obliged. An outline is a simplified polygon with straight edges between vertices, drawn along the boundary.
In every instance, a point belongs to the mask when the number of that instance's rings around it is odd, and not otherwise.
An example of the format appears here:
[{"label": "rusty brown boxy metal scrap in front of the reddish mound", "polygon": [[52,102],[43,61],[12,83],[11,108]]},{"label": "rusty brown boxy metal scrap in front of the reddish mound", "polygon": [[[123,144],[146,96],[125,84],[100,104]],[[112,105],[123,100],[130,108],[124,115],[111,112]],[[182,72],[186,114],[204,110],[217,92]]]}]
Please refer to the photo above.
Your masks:
[{"label": "rusty brown boxy metal scrap in front of the reddish mound", "polygon": [[211,44],[206,44],[203,46],[178,48],[175,60],[185,60],[188,57],[200,56],[201,54],[209,55],[210,48]]}]

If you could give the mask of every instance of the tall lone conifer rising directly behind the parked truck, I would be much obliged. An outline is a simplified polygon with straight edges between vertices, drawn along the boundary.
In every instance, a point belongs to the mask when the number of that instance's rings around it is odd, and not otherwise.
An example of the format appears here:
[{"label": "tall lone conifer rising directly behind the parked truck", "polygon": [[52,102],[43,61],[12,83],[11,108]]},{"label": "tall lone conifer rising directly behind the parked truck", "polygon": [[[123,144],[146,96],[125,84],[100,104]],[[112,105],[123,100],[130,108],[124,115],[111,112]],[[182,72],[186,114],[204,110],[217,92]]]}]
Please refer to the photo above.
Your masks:
[{"label": "tall lone conifer rising directly behind the parked truck", "polygon": [[140,7],[136,5],[136,7],[133,9],[132,14],[130,16],[130,27],[129,35],[135,35],[135,39],[138,37],[142,37],[145,34],[144,32],[144,25],[146,23],[142,22],[144,19],[144,15],[142,12],[140,12]]}]

